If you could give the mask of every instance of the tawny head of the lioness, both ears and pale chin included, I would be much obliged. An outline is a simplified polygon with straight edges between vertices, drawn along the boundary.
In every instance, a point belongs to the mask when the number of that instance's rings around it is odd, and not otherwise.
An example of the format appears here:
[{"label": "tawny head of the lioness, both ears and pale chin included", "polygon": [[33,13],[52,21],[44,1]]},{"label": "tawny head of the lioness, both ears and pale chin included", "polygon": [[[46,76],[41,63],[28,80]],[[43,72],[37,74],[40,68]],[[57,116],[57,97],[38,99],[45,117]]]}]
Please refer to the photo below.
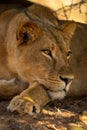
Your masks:
[{"label": "tawny head of the lioness, both ears and pale chin included", "polygon": [[42,84],[52,99],[63,98],[74,78],[69,67],[69,42],[75,23],[58,28],[39,20],[25,20],[14,26],[17,29],[10,32],[13,41],[6,41],[11,69],[30,84]]}]

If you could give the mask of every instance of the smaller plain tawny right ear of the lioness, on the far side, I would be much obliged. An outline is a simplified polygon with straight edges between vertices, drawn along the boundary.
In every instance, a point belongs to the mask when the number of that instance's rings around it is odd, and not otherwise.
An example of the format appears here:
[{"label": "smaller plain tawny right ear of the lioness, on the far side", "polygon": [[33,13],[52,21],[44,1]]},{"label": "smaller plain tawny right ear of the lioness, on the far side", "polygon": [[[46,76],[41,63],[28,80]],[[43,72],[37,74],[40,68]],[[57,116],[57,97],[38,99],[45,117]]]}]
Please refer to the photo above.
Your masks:
[{"label": "smaller plain tawny right ear of the lioness, on the far side", "polygon": [[70,21],[60,27],[60,30],[62,31],[64,37],[68,39],[72,38],[75,29],[76,29],[76,23],[74,21]]}]

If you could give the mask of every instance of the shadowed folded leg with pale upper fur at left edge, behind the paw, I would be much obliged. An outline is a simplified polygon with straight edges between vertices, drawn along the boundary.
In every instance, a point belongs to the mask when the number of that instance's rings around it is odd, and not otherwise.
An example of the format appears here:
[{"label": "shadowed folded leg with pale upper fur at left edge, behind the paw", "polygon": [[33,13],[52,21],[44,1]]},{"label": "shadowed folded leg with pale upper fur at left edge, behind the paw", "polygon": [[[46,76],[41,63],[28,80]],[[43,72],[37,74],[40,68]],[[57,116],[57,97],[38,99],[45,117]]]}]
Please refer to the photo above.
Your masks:
[{"label": "shadowed folded leg with pale upper fur at left edge, behind the paw", "polygon": [[17,78],[0,80],[0,99],[11,99],[28,88],[29,84]]}]

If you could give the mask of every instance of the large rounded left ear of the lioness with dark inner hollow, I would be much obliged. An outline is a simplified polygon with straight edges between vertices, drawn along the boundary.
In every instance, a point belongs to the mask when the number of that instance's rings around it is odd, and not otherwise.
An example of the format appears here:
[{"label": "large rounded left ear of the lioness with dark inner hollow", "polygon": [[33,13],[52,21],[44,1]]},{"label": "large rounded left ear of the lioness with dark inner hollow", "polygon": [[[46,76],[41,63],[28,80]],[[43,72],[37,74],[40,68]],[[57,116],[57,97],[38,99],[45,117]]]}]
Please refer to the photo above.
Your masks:
[{"label": "large rounded left ear of the lioness with dark inner hollow", "polygon": [[16,37],[18,40],[18,44],[26,44],[31,43],[36,38],[39,37],[40,28],[35,23],[25,22],[19,25]]}]

